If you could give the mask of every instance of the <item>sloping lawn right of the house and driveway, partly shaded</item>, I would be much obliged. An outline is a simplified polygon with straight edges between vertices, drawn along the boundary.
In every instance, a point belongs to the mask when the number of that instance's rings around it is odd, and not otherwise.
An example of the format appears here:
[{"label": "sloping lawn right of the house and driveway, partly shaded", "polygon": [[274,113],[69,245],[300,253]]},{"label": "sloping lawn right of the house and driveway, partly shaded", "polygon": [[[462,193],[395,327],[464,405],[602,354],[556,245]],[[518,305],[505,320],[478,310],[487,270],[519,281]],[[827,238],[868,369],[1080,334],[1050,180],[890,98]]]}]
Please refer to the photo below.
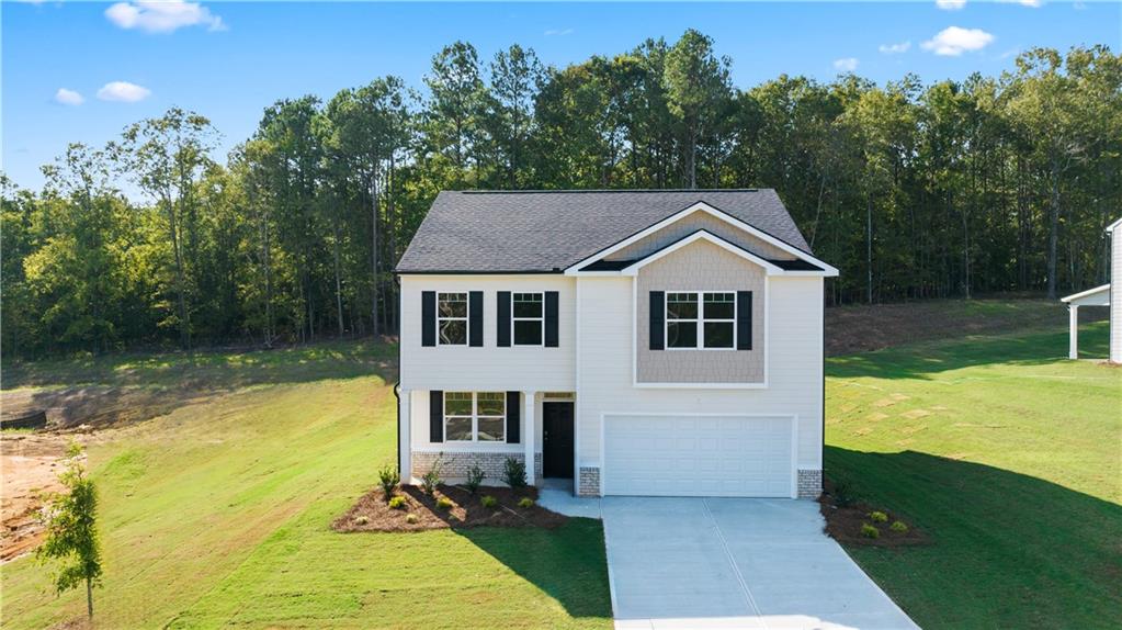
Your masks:
[{"label": "sloping lawn right of the house and driveway, partly shaded", "polygon": [[920,626],[1116,621],[1122,369],[1066,351],[1056,331],[828,359],[827,474],[934,539],[849,551]]}]

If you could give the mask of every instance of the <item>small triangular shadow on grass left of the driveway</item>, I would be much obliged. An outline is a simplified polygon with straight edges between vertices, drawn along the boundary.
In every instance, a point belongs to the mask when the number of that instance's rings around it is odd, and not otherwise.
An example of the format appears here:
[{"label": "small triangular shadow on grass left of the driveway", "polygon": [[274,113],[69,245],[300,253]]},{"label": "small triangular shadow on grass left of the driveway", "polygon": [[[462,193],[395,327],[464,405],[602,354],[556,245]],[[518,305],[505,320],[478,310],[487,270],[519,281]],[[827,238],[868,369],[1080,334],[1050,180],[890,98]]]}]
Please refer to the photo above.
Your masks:
[{"label": "small triangular shadow on grass left of the driveway", "polygon": [[611,619],[600,521],[569,519],[552,530],[481,527],[453,531],[553,597],[570,617]]}]

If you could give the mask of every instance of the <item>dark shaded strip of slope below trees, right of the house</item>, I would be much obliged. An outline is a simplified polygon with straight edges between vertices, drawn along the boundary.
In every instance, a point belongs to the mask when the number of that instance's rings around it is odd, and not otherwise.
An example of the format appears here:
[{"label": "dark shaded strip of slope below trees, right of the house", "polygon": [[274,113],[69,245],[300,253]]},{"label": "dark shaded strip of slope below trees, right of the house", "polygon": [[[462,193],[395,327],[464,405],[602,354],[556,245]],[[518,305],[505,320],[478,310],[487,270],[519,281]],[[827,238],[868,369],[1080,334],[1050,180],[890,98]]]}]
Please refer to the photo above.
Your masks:
[{"label": "dark shaded strip of slope below trees, right of the house", "polygon": [[[1079,356],[1106,358],[1110,326],[1080,327]],[[925,378],[939,372],[991,364],[1046,365],[1067,356],[1067,330],[1020,336],[931,341],[826,359],[826,375],[840,378]]]}]

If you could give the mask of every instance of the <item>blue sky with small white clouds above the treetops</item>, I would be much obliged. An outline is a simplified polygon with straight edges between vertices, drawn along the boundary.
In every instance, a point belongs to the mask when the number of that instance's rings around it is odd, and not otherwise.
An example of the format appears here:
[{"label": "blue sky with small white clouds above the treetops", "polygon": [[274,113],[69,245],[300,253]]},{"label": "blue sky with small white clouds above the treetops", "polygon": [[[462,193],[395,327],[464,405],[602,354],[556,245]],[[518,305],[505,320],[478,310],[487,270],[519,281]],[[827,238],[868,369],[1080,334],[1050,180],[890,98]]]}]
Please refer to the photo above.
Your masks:
[{"label": "blue sky with small white clouds above the treetops", "polygon": [[[1122,3],[1047,2],[374,3],[9,2],[2,34],[2,168],[38,188],[39,165],[68,141],[100,146],[172,104],[211,118],[217,157],[252,134],[261,110],[305,93],[324,99],[375,76],[421,88],[432,55],[456,39],[481,57],[517,42],[563,66],[673,42],[716,40],[745,88],[781,73],[829,81],[854,69],[879,83],[996,75],[1032,46],[1122,44]],[[938,4],[944,4],[940,7]],[[965,6],[963,6],[965,4]],[[63,90],[63,91],[61,91]]]}]

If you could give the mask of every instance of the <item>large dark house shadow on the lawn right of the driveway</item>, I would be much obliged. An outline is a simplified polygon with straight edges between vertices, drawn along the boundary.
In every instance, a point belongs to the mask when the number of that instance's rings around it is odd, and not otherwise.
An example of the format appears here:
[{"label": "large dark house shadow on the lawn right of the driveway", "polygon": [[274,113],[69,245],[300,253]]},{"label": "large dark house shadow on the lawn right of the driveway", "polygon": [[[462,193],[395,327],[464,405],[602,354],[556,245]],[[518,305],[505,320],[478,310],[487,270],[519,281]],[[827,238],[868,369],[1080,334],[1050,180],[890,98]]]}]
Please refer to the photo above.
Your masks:
[{"label": "large dark house shadow on the lawn right of the driveway", "polygon": [[[824,455],[827,476],[929,535],[923,548],[850,549],[923,628],[1100,628],[1122,610],[1118,503],[910,450]],[[1118,496],[1120,467],[1100,471],[1096,490]]]}]

